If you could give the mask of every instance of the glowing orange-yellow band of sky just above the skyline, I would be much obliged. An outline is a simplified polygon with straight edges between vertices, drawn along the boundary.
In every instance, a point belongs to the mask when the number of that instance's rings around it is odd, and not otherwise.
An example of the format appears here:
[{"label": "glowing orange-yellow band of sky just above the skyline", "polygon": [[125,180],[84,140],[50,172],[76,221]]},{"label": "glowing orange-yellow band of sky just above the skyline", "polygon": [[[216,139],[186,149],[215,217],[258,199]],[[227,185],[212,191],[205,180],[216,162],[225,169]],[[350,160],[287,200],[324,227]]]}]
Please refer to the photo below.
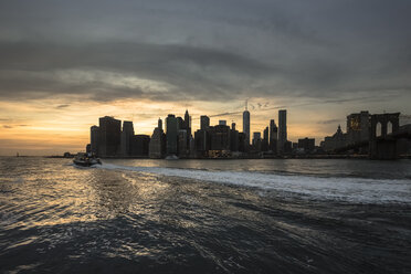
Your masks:
[{"label": "glowing orange-yellow band of sky just above the skyline", "polygon": [[[242,101],[169,103],[126,99],[97,103],[72,98],[70,104],[63,102],[67,102],[67,98],[0,103],[0,155],[61,155],[64,151],[84,150],[89,140],[89,127],[98,125],[98,117],[105,115],[133,120],[136,134],[151,135],[157,119],[164,119],[169,113],[183,116],[188,108],[192,128],[197,130],[200,115],[212,116],[244,109]],[[293,141],[313,137],[319,144],[324,136],[335,133],[338,124],[345,128],[345,117],[350,113],[339,104],[322,104],[310,99],[301,99],[298,104],[286,98],[252,98],[249,102],[252,133],[263,131],[271,118],[277,124],[276,106],[288,105],[288,139]],[[306,105],[302,106],[302,103]],[[366,109],[356,104],[351,107],[352,112]],[[241,113],[212,117],[211,125],[218,124],[219,119],[225,119],[228,124],[235,122],[236,128],[242,131]]]}]

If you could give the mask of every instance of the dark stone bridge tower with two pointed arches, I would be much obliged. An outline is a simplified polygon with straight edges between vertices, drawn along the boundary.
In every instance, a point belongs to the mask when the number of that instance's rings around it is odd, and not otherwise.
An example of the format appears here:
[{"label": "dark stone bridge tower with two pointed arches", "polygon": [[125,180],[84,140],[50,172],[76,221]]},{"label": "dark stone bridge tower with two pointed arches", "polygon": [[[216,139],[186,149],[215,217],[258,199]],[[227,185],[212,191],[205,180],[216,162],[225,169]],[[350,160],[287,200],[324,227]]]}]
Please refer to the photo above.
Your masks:
[{"label": "dark stone bridge tower with two pointed arches", "polygon": [[[392,160],[398,158],[397,138],[390,136],[400,128],[400,113],[384,113],[371,115],[369,157],[378,160]],[[391,123],[392,131],[388,133],[388,124]],[[381,125],[381,135],[377,136],[377,125]]]}]

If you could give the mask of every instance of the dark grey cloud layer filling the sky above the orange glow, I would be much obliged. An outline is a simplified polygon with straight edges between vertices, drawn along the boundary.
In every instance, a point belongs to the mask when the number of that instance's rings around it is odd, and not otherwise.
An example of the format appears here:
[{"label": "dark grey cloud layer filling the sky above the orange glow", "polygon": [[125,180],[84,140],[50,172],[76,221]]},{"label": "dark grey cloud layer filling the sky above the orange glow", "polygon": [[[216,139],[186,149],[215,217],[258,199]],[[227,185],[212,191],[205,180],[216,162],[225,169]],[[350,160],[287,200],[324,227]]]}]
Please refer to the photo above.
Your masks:
[{"label": "dark grey cloud layer filling the sky above the orange glow", "polygon": [[401,0],[1,2],[0,98],[393,98],[411,91],[410,9]]}]

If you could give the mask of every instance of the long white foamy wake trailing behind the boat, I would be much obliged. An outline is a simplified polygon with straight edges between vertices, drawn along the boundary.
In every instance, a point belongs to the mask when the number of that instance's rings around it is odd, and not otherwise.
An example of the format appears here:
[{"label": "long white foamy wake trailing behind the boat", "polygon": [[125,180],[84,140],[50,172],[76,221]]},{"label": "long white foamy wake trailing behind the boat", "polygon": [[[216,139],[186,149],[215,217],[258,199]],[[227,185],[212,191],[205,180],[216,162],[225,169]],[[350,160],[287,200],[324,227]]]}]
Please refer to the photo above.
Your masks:
[{"label": "long white foamy wake trailing behind the boat", "polygon": [[368,178],[322,178],[284,176],[249,171],[209,171],[160,167],[129,167],[103,164],[103,169],[129,170],[167,177],[251,187],[268,191],[296,193],[315,199],[361,203],[411,203],[411,180]]}]

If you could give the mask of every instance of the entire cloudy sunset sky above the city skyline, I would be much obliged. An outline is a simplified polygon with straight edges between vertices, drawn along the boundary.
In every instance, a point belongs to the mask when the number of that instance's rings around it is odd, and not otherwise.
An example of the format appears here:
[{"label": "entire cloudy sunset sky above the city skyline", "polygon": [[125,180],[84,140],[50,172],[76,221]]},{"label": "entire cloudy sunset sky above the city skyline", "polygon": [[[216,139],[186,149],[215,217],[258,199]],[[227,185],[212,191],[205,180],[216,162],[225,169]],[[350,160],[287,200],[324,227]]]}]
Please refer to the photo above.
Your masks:
[{"label": "entire cloudy sunset sky above the city skyline", "polygon": [[0,0],[0,155],[84,150],[109,115],[251,131],[287,109],[319,144],[350,113],[411,123],[409,0]]}]

